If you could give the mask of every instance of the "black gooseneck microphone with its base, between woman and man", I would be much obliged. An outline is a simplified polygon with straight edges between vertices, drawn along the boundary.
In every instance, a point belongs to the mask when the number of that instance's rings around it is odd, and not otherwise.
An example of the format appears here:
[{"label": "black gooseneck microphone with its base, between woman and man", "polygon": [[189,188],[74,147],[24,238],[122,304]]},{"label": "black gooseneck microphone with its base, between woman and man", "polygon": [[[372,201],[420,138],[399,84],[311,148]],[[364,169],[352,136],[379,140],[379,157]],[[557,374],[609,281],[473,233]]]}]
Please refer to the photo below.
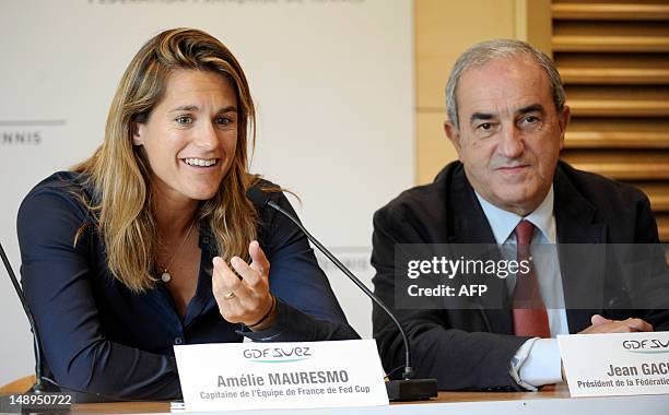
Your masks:
[{"label": "black gooseneck microphone with its base, between woman and man", "polygon": [[307,239],[312,241],[318,248],[322,254],[325,254],[337,268],[344,273],[360,289],[362,289],[367,297],[372,299],[378,307],[386,312],[395,325],[400,331],[402,335],[402,341],[404,342],[404,371],[402,372],[401,380],[390,380],[386,382],[386,390],[388,392],[388,399],[390,401],[420,401],[427,400],[430,398],[436,398],[437,395],[437,381],[436,379],[413,379],[413,367],[411,366],[411,344],[409,342],[409,337],[407,336],[407,332],[397,320],[397,317],[386,307],[384,301],[382,301],[359,277],[356,277],[341,261],[337,259],[322,244],[318,241],[294,217],[292,214],[286,212],[284,209],[279,206],[270,199],[270,194],[263,192],[258,189],[257,186],[253,186],[247,189],[246,198],[250,200],[254,204],[265,208],[270,206],[279,213],[283,214],[291,222],[293,222],[303,233],[306,235]]}]

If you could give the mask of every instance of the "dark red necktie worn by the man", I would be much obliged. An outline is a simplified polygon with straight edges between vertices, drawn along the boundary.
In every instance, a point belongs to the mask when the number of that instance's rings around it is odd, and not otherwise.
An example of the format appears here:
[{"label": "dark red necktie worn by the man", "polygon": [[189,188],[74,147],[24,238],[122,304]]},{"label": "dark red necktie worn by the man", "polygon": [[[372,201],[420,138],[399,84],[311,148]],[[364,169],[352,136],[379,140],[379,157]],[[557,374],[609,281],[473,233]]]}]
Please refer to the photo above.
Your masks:
[{"label": "dark red necktie worn by the man", "polygon": [[[517,259],[530,261],[530,242],[535,225],[528,221],[520,221],[516,226]],[[520,266],[523,269],[523,266]],[[551,330],[548,322],[545,306],[541,299],[539,282],[535,266],[531,264],[529,271],[516,274],[516,288],[514,289],[514,334],[531,337],[550,337]]]}]

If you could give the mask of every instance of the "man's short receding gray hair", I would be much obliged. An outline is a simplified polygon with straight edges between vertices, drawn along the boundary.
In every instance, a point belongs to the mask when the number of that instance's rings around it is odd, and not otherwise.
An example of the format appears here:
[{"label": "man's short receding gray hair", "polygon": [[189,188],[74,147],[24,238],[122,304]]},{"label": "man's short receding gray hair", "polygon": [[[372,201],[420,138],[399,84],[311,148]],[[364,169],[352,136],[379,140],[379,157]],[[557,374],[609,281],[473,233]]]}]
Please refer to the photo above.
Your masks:
[{"label": "man's short receding gray hair", "polygon": [[495,59],[509,59],[518,56],[527,56],[537,62],[545,71],[549,78],[553,104],[558,111],[562,110],[565,102],[564,87],[555,63],[541,50],[520,40],[493,39],[477,44],[467,49],[453,66],[448,83],[446,84],[446,110],[448,118],[456,129],[460,129],[458,120],[458,100],[456,90],[462,74],[471,68],[482,68]]}]

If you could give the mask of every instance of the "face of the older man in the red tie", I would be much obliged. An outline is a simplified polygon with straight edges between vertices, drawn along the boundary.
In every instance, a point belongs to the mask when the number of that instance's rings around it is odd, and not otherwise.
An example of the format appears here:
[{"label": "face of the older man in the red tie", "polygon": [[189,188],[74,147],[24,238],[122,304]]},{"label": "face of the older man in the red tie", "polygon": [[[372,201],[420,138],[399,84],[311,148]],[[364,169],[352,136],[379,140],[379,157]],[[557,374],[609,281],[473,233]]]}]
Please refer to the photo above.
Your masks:
[{"label": "face of the older man in the red tie", "polygon": [[558,112],[548,75],[523,56],[467,70],[456,94],[460,128],[445,129],[472,187],[501,209],[532,212],[553,181],[568,107]]}]

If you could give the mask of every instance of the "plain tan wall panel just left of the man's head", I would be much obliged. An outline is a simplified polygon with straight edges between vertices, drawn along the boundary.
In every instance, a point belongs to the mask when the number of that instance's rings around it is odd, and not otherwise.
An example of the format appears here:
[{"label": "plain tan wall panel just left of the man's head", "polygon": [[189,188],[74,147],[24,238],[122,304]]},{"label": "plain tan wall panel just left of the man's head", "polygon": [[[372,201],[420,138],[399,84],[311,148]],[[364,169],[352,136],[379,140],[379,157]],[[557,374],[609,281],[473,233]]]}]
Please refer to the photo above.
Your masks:
[{"label": "plain tan wall panel just left of the man's head", "polygon": [[515,37],[518,3],[414,0],[418,183],[432,181],[446,163],[457,158],[442,128],[447,118],[444,90],[450,68],[478,42]]}]

